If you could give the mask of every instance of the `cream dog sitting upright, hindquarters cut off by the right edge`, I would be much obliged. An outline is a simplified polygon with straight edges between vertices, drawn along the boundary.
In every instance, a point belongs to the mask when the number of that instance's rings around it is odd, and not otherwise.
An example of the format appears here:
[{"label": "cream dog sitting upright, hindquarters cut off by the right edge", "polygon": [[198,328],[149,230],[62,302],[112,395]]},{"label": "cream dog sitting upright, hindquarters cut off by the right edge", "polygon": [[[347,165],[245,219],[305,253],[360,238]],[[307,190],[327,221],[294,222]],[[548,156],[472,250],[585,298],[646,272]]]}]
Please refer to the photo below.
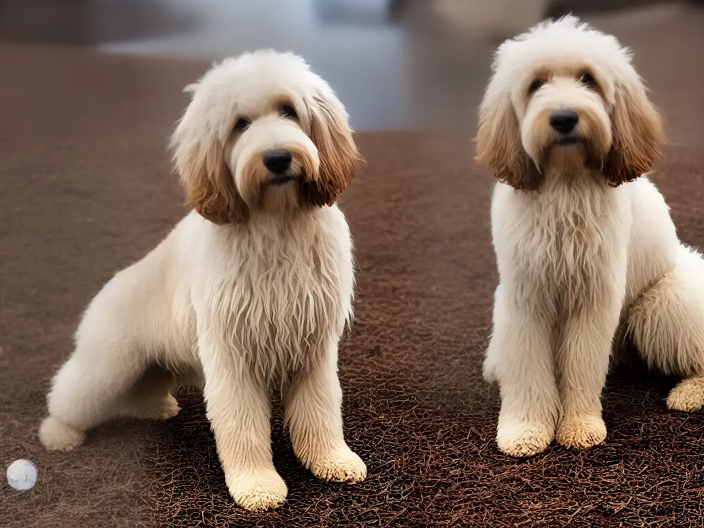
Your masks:
[{"label": "cream dog sitting upright, hindquarters cut off by the right edge", "polygon": [[664,135],[631,54],[568,16],[504,42],[480,108],[477,161],[499,180],[491,225],[502,289],[484,376],[496,441],[529,456],[606,437],[615,337],[704,403],[704,260],[677,238],[646,173]]}]

